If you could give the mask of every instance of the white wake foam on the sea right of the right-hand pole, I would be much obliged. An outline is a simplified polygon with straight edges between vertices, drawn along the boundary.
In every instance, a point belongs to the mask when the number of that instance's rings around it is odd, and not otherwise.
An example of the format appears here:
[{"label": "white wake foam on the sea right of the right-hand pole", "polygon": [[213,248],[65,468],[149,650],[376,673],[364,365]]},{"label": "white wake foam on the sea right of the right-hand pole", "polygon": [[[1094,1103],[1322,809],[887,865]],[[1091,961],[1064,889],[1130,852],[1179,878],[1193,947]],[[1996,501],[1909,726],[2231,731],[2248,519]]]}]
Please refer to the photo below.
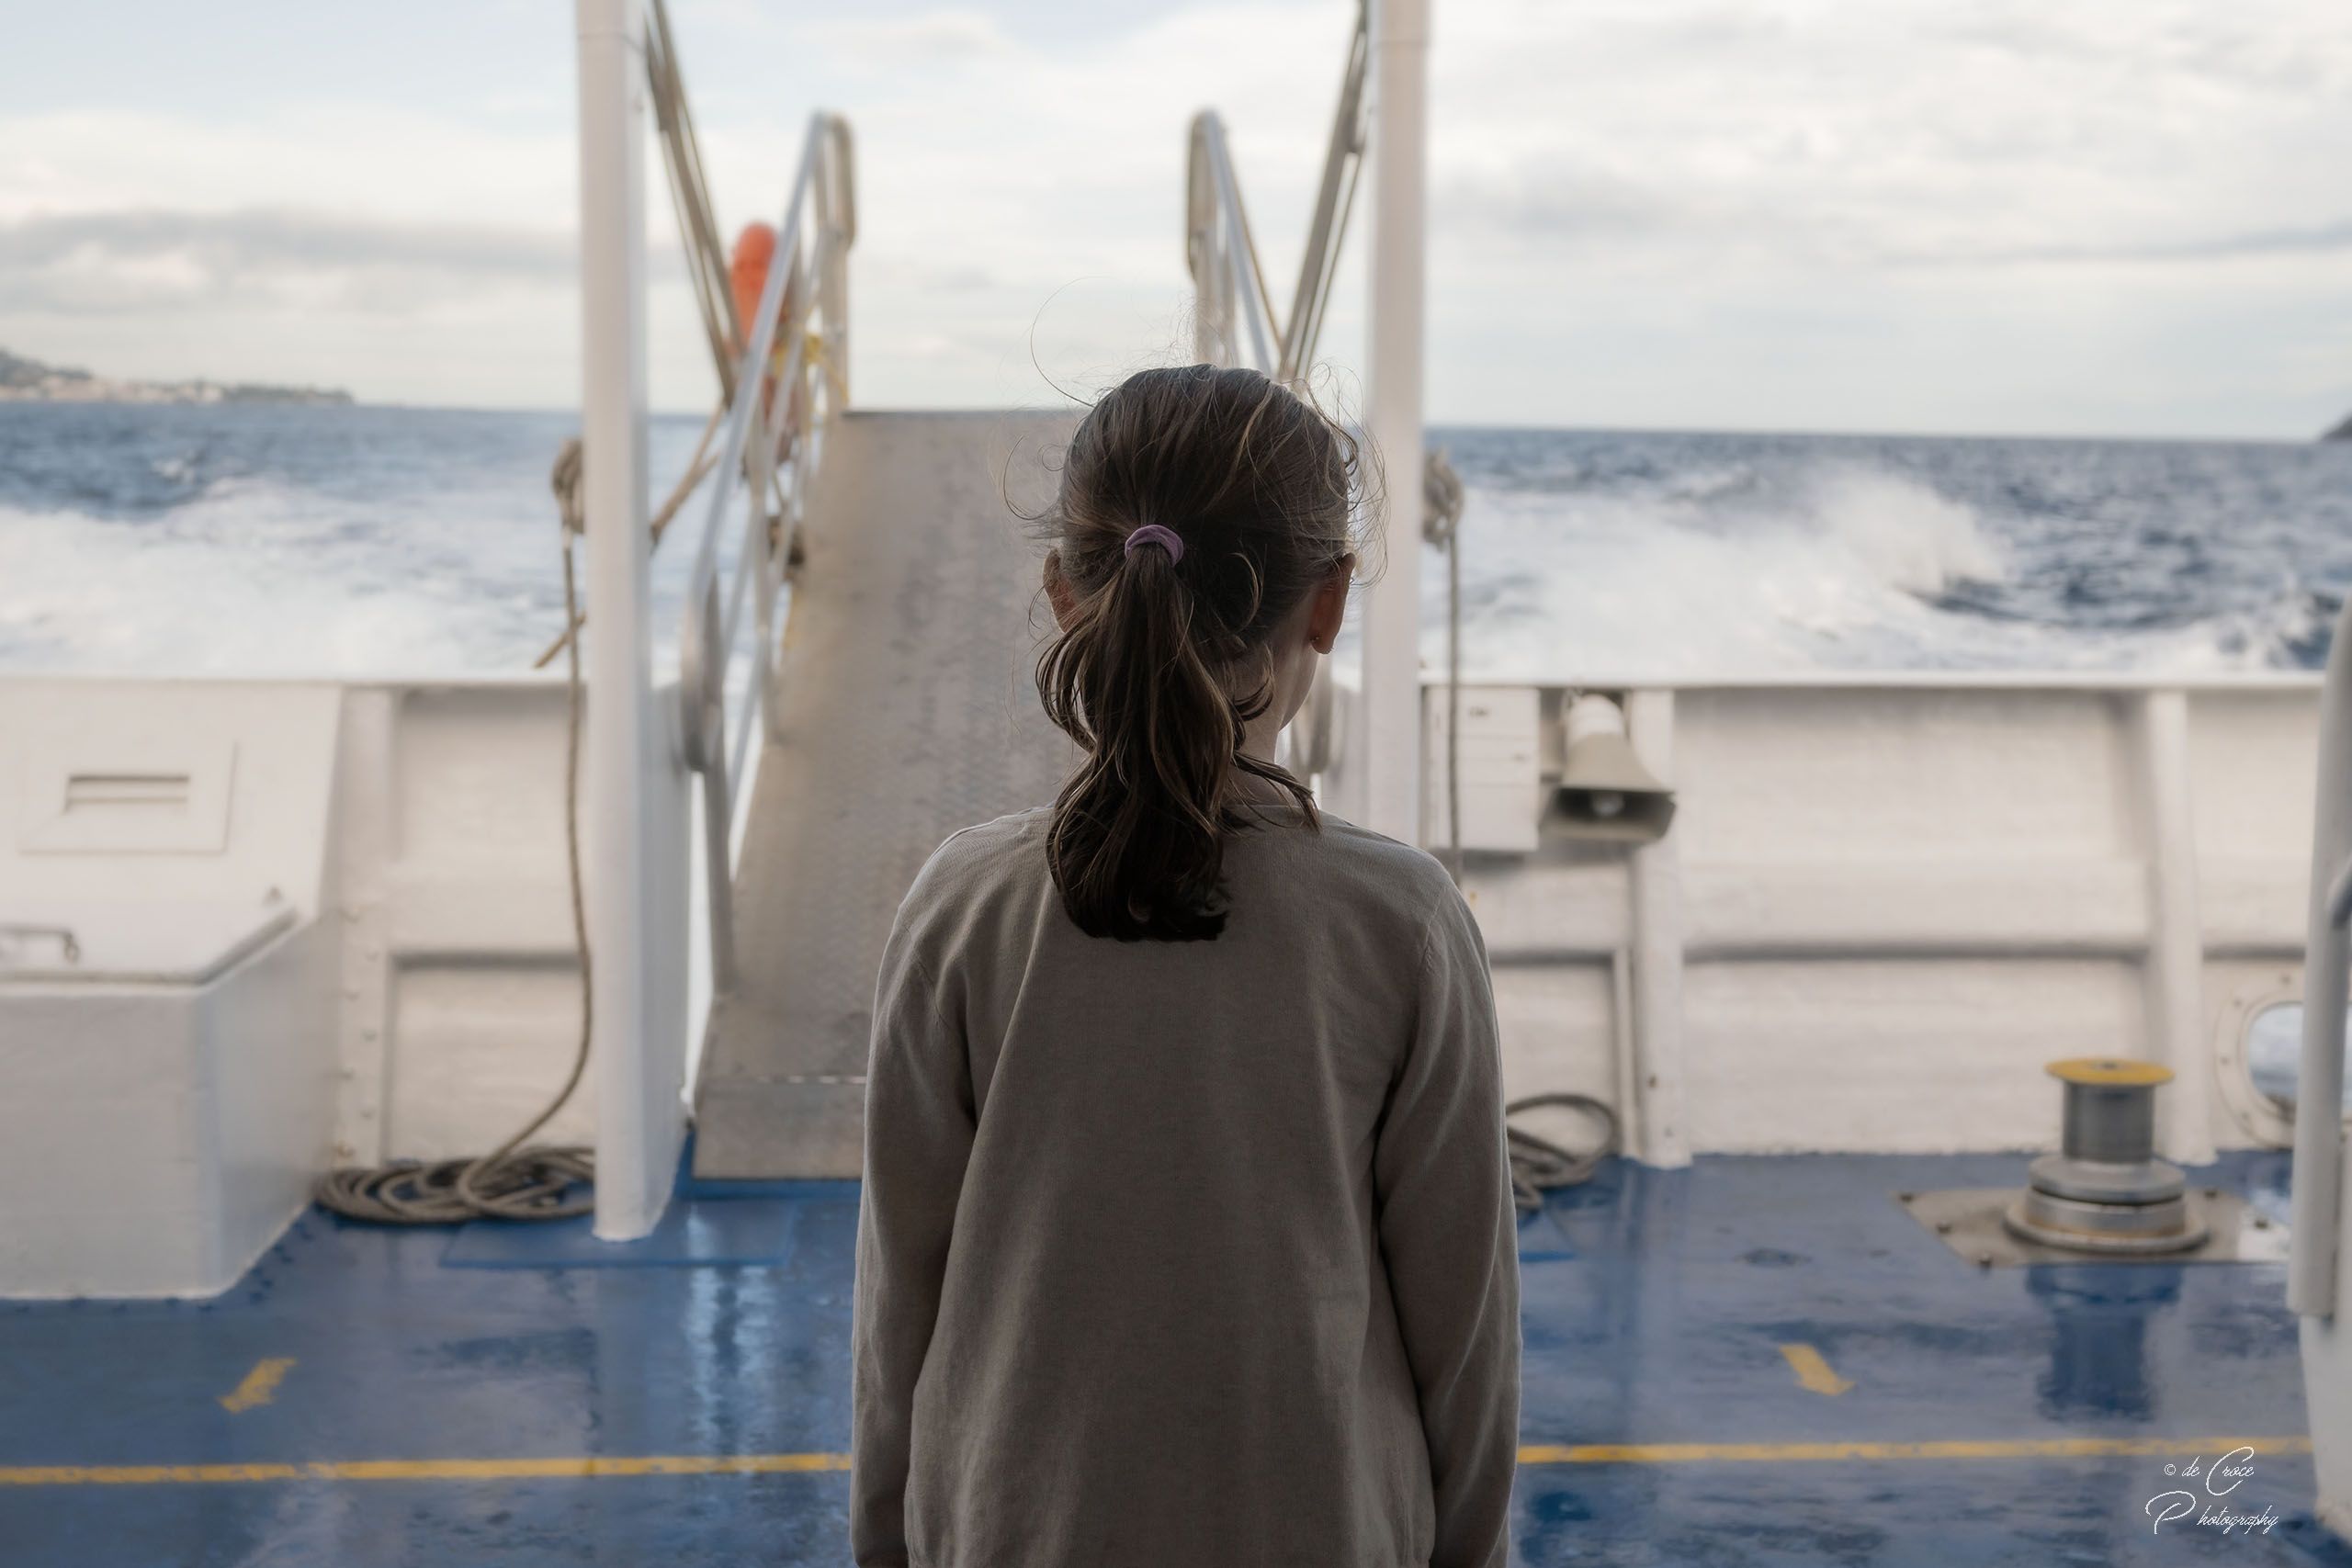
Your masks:
[{"label": "white wake foam on the sea right of the right-hand pole", "polygon": [[[2293,663],[2319,609],[2114,632],[1990,616],[2016,550],[1969,505],[1884,468],[1738,470],[1637,491],[1472,489],[1463,517],[1465,670],[1496,679],[1715,677],[1820,668],[2258,670]],[[1442,571],[1423,658],[1444,661]]]}]

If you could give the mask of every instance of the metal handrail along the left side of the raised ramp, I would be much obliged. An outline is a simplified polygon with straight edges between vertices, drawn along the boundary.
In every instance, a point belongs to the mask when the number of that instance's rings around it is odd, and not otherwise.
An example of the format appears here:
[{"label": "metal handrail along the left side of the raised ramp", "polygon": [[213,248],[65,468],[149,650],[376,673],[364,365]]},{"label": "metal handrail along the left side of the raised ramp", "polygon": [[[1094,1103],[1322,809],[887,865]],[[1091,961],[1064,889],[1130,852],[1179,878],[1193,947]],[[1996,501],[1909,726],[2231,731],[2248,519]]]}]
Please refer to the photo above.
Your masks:
[{"label": "metal handrail along the left side of the raised ramp", "polygon": [[[793,529],[807,512],[826,454],[826,430],[849,402],[849,247],[856,195],[849,122],[818,113],[793,176],[776,256],[746,322],[677,649],[680,736],[703,790],[703,870],[710,900],[713,994],[734,985],[736,802],[760,738],[771,726],[776,592]],[[774,374],[760,367],[774,364]],[[724,541],[739,538],[734,559]],[[741,658],[748,679],[729,691]]]}]

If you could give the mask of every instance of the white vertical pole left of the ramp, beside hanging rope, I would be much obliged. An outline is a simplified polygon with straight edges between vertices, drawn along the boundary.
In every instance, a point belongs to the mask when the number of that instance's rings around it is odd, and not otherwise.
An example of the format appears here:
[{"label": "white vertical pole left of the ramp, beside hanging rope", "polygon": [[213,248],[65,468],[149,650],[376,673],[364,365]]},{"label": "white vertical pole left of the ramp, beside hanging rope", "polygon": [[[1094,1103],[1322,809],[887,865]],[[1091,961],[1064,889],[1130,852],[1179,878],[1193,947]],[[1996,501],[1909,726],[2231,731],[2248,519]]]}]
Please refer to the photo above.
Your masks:
[{"label": "white vertical pole left of the ramp, beside hanging rope", "polygon": [[647,771],[652,705],[644,480],[644,14],[576,0],[581,78],[581,498],[588,517],[588,733],[581,752],[595,1234],[654,1229],[670,1171],[647,1081]]}]

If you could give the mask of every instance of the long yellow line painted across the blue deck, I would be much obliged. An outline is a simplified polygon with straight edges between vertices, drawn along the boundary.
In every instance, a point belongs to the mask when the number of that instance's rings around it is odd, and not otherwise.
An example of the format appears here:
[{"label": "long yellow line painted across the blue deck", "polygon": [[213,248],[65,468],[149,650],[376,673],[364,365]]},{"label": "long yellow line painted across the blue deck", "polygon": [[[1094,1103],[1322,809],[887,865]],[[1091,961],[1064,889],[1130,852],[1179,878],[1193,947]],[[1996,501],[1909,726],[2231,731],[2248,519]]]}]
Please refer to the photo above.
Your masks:
[{"label": "long yellow line painted across the blue deck", "polygon": [[[2232,1450],[2300,1455],[2307,1436],[2056,1436],[1933,1443],[1536,1443],[1519,1465],[1820,1465],[1875,1460],[2110,1460]],[[0,1486],[186,1486],[235,1481],[588,1481],[774,1476],[849,1469],[847,1453],[715,1453],[553,1460],[318,1460],[301,1465],[5,1465]]]}]

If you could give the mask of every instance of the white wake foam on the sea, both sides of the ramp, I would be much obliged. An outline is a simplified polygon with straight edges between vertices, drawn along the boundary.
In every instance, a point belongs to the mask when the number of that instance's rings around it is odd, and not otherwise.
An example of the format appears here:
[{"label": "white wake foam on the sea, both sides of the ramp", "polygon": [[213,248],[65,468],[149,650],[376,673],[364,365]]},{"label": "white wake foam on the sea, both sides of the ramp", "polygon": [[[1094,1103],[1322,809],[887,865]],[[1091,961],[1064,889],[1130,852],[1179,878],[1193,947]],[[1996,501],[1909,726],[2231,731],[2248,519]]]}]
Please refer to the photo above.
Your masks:
[{"label": "white wake foam on the sea, both sides of the ramp", "polygon": [[[663,428],[682,465],[691,428]],[[452,465],[397,494],[275,477],[186,484],[136,520],[0,505],[0,663],[219,675],[513,672],[560,625],[553,501],[532,465]],[[1557,475],[1555,475],[1557,477]],[[1698,461],[1649,480],[1475,487],[1465,668],[1479,677],[1712,677],[1820,668],[2218,672],[2310,663],[2328,607],[2293,581],[2190,625],[2027,616],[2030,534],[1886,465]],[[687,517],[699,522],[701,508]],[[2020,524],[2011,522],[2011,529]],[[2039,524],[2034,524],[2039,527]],[[680,538],[689,536],[684,529]],[[1423,656],[1444,661],[1444,571]],[[656,665],[675,663],[684,550],[656,557]],[[2032,595],[2025,595],[2032,597]],[[1348,642],[1355,642],[1350,621]]]}]

